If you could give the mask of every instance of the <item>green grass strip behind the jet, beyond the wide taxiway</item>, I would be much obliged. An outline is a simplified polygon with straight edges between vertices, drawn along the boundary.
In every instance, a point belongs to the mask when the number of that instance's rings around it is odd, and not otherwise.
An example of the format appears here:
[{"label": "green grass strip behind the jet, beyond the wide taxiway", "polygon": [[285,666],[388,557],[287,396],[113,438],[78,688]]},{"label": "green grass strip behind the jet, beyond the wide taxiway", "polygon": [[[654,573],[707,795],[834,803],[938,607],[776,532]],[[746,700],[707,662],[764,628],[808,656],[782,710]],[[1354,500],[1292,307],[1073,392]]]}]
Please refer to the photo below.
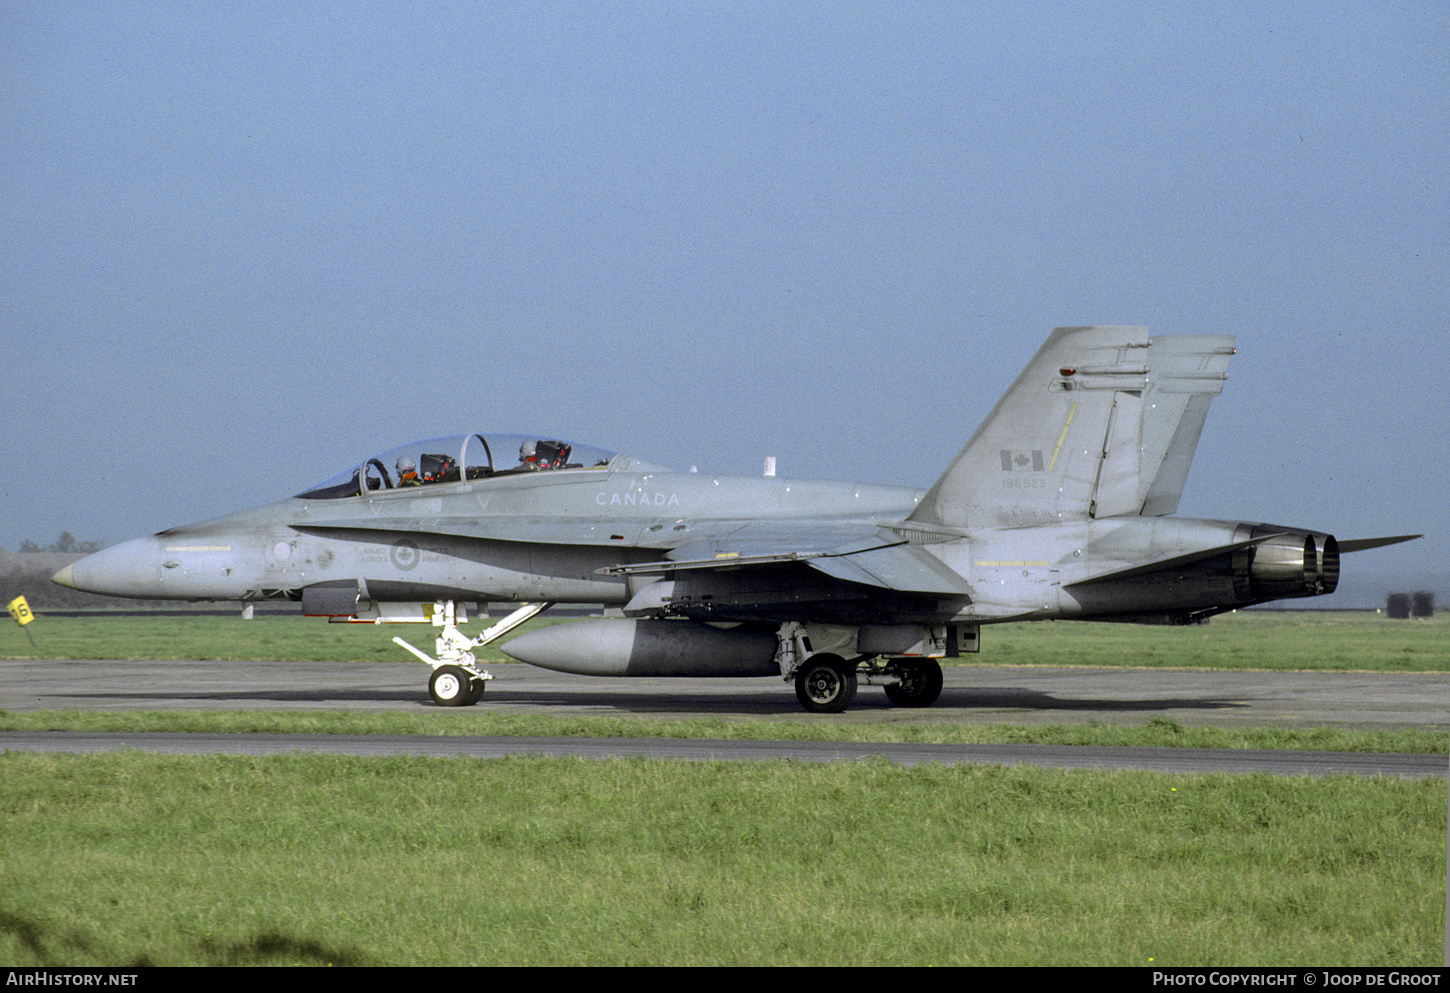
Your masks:
[{"label": "green grass strip behind the jet, beyond the wide taxiway", "polygon": [[[531,620],[532,631],[567,619]],[[476,633],[474,622],[467,631]],[[394,635],[431,648],[428,625],[335,625],[315,618],[38,618],[35,645],[0,625],[0,658],[204,658],[410,661]],[[506,639],[505,639],[506,641]],[[478,652],[503,660],[496,645]],[[958,664],[1134,665],[1150,668],[1450,671],[1450,619],[1389,620],[1375,613],[1246,610],[1208,625],[1156,628],[1095,622],[989,625],[982,654]]]}]

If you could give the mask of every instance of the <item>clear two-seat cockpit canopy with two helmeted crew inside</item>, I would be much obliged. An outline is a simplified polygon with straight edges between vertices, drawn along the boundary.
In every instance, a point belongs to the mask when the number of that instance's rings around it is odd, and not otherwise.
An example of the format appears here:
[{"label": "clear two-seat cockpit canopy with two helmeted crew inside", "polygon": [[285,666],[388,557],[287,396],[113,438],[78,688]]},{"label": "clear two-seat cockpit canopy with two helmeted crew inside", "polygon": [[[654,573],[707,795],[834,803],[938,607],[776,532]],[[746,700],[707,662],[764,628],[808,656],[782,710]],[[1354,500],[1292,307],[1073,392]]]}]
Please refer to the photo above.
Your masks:
[{"label": "clear two-seat cockpit canopy with two helmeted crew inside", "polygon": [[618,452],[539,435],[454,435],[390,448],[347,473],[299,493],[339,500],[378,490],[486,480],[516,473],[605,468]]}]

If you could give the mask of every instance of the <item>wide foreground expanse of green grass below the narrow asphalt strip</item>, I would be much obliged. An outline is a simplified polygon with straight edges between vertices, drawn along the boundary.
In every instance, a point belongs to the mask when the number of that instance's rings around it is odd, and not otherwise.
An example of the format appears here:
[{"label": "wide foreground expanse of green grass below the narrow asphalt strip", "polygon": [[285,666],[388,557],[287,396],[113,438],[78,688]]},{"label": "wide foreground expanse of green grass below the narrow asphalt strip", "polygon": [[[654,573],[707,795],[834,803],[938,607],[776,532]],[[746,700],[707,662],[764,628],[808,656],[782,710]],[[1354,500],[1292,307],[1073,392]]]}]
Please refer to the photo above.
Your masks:
[{"label": "wide foreground expanse of green grass below the narrow asphalt strip", "polygon": [[1443,780],[0,757],[0,961],[1436,965]]}]

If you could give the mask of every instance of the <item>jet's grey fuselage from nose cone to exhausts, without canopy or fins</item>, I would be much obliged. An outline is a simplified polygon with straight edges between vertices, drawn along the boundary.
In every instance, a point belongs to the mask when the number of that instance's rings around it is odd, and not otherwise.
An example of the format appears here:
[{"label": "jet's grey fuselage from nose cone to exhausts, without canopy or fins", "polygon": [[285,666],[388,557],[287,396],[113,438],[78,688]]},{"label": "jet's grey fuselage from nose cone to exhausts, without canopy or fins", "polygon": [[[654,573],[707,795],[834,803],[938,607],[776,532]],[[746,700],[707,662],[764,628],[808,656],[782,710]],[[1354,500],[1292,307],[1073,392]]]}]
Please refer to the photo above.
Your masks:
[{"label": "jet's grey fuselage from nose cone to exhausts, without canopy or fins", "polygon": [[1314,557],[1321,549],[1322,560],[1327,536],[1318,544],[1311,538],[1304,551],[1304,535],[1312,532],[1292,539],[1277,576],[1260,564],[1254,577],[1254,562],[1240,549],[1085,583],[1247,541],[1254,525],[1124,516],[924,531],[905,523],[924,496],[916,489],[634,465],[641,464],[618,457],[587,468],[291,497],[107,548],[64,570],[58,581],[125,597],[291,599],[309,613],[348,613],[367,600],[625,606],[655,580],[606,574],[612,567],[750,555],[805,528],[914,544],[961,577],[963,589],[928,594],[840,583],[805,564],[782,562],[682,573],[652,613],[835,623],[1159,620],[1325,586],[1324,565]]}]

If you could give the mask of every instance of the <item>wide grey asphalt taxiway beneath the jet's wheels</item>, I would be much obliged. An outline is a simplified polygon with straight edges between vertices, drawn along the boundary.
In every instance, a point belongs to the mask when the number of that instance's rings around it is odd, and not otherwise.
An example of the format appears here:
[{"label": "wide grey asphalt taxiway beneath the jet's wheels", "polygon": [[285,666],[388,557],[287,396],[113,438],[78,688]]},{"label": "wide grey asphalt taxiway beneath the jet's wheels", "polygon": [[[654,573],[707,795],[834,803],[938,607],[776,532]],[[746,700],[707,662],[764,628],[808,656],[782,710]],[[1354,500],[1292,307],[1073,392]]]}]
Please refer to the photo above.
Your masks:
[{"label": "wide grey asphalt taxiway beneath the jet's wheels", "polygon": [[[808,715],[779,678],[600,678],[493,664],[500,713],[768,718],[847,723],[1147,723],[1450,729],[1450,674],[948,665],[941,699],[895,707],[861,686]],[[0,661],[3,710],[393,710],[432,707],[420,662]],[[454,713],[465,718],[470,707]]]}]

